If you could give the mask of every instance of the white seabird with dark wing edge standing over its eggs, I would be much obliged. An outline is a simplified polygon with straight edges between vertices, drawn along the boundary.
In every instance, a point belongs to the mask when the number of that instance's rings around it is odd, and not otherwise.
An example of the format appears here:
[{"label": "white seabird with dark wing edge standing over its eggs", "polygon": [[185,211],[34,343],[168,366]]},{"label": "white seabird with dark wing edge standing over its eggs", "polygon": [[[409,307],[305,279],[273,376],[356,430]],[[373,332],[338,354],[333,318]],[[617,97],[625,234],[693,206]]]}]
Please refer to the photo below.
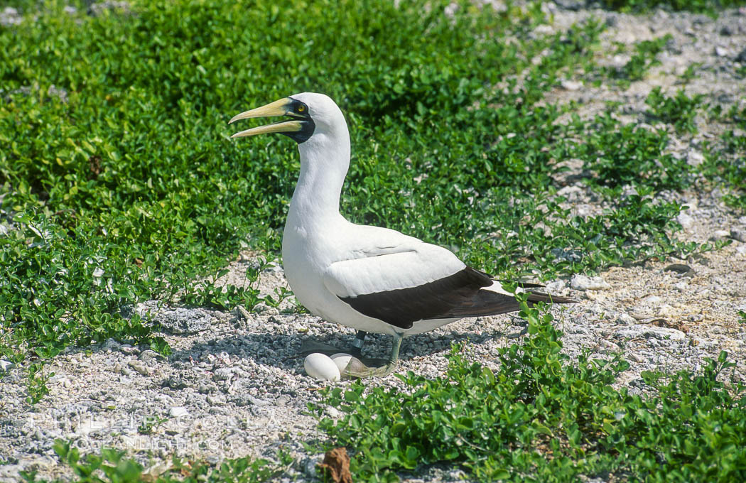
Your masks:
[{"label": "white seabird with dark wing edge standing over its eggs", "polygon": [[[353,224],[339,214],[339,195],[350,164],[350,136],[342,111],[327,95],[291,95],[231,119],[286,116],[232,137],[283,133],[298,143],[301,174],[283,233],[285,276],[295,297],[313,314],[366,332],[393,335],[386,375],[407,335],[465,317],[519,309],[501,282],[464,264],[443,247],[381,227]],[[529,285],[539,286],[539,285]],[[528,289],[530,302],[568,303]]]}]

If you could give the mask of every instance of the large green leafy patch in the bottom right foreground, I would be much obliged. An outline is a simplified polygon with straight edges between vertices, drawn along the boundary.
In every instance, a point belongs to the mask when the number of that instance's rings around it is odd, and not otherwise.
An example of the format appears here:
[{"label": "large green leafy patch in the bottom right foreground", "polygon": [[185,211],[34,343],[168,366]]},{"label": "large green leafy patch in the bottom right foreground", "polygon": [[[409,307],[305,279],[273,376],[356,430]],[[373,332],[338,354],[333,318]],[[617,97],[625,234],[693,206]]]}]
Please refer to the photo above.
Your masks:
[{"label": "large green leafy patch in the bottom right foreground", "polygon": [[[629,364],[580,356],[540,309],[521,306],[528,335],[500,350],[497,368],[458,347],[447,376],[398,376],[403,388],[327,390],[336,421],[310,405],[332,444],[354,453],[361,481],[448,462],[479,481],[730,482],[746,477],[746,386],[727,384],[727,353],[696,373],[642,373],[645,391],[613,387]],[[492,364],[489,364],[492,366]]]}]

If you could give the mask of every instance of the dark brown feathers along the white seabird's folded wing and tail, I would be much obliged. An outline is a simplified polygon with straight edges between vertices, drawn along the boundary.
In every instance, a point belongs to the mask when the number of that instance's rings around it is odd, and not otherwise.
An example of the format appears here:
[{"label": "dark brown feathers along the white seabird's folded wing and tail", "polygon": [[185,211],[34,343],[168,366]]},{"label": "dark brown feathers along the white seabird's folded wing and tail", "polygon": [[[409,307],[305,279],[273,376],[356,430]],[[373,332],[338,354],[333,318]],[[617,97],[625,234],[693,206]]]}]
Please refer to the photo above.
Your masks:
[{"label": "dark brown feathers along the white seabird's folded wing and tail", "polygon": [[[497,315],[518,310],[518,303],[512,296],[481,290],[489,285],[492,285],[489,275],[466,267],[450,277],[412,288],[339,298],[357,312],[401,329],[410,329],[416,321]],[[566,297],[528,291],[529,303],[574,302]]]}]

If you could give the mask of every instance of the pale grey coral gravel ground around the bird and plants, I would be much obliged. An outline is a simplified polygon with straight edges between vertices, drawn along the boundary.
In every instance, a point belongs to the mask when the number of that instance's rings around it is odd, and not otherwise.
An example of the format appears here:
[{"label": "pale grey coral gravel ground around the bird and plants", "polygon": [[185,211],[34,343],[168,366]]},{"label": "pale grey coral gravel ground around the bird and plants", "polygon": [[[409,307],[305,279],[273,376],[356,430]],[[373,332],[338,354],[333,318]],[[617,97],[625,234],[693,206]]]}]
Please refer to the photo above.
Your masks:
[{"label": "pale grey coral gravel ground around the bird and plants", "polygon": [[[566,3],[566,2],[560,2]],[[627,84],[594,85],[587,75],[569,72],[545,97],[548,104],[576,101],[579,116],[592,116],[607,101],[624,105],[622,119],[656,123],[645,112],[645,99],[660,86],[673,95],[685,89],[719,104],[743,103],[746,83],[732,75],[734,59],[746,45],[746,12],[727,10],[717,19],[692,13],[662,10],[633,16],[605,10],[562,8],[548,4],[554,23],[544,33],[564,30],[595,16],[608,27],[595,53],[599,65],[622,66],[627,54],[615,54],[615,45],[632,45],[671,35],[661,64],[642,80]],[[542,30],[537,29],[539,34]],[[746,54],[744,54],[746,57]],[[680,84],[681,75],[695,66],[695,76]],[[697,133],[672,132],[668,149],[692,163],[703,159],[702,145],[721,135],[723,127],[696,118]],[[744,133],[740,133],[741,136]],[[580,215],[601,212],[603,201],[577,180],[572,160],[565,173],[565,206]],[[577,168],[580,169],[580,168]],[[717,358],[721,350],[736,362],[736,381],[746,382],[746,217],[724,203],[718,189],[688,189],[664,195],[689,209],[679,215],[686,241],[728,240],[720,250],[688,259],[660,259],[615,267],[600,279],[575,276],[548,284],[554,294],[580,300],[573,306],[552,309],[564,336],[564,350],[577,356],[590,348],[605,357],[622,352],[630,362],[619,384],[640,391],[644,370],[698,368],[703,358]],[[219,282],[240,286],[246,268],[257,266],[260,253],[245,252]],[[286,287],[283,272],[269,265],[260,275],[260,290],[274,294]],[[295,463],[289,476],[311,479],[316,455],[304,443],[324,438],[316,420],[307,414],[307,402],[320,402],[319,382],[304,374],[298,357],[301,341],[314,338],[346,347],[353,331],[294,310],[292,299],[279,309],[260,305],[251,313],[215,309],[162,306],[155,301],[132,310],[151,312],[166,328],[164,337],[172,354],[164,357],[147,347],[133,347],[113,339],[94,347],[69,347],[48,366],[49,394],[35,405],[25,402],[23,367],[10,368],[0,378],[0,481],[15,481],[19,471],[37,470],[40,476],[66,476],[52,452],[53,441],[66,439],[95,452],[101,446],[125,449],[143,464],[171,455],[204,458],[210,462],[242,455],[272,457],[278,448]],[[402,349],[401,372],[413,370],[438,377],[446,367],[445,354],[454,342],[466,341],[468,358],[490,367],[499,347],[524,333],[521,320],[511,315],[465,319],[436,331],[409,338]],[[365,351],[386,353],[389,340],[369,338]],[[371,382],[401,385],[389,376]],[[326,385],[326,384],[324,384]],[[341,387],[349,382],[336,383]],[[335,408],[327,414],[339,417]],[[463,476],[448,467],[430,467],[426,473],[405,475],[405,481],[455,481]]]}]

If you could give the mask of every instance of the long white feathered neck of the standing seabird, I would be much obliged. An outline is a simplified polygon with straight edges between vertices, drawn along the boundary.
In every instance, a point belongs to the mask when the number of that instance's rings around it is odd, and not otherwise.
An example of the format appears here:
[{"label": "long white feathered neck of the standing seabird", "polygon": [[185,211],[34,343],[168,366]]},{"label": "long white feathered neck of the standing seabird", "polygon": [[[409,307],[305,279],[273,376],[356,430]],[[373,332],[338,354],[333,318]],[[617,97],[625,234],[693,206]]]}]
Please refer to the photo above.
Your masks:
[{"label": "long white feathered neck of the standing seabird", "polygon": [[[290,201],[287,223],[311,227],[339,217],[339,195],[350,165],[350,135],[342,122],[328,133],[314,133],[298,145],[301,174]],[[302,217],[301,217],[302,213]]]}]

